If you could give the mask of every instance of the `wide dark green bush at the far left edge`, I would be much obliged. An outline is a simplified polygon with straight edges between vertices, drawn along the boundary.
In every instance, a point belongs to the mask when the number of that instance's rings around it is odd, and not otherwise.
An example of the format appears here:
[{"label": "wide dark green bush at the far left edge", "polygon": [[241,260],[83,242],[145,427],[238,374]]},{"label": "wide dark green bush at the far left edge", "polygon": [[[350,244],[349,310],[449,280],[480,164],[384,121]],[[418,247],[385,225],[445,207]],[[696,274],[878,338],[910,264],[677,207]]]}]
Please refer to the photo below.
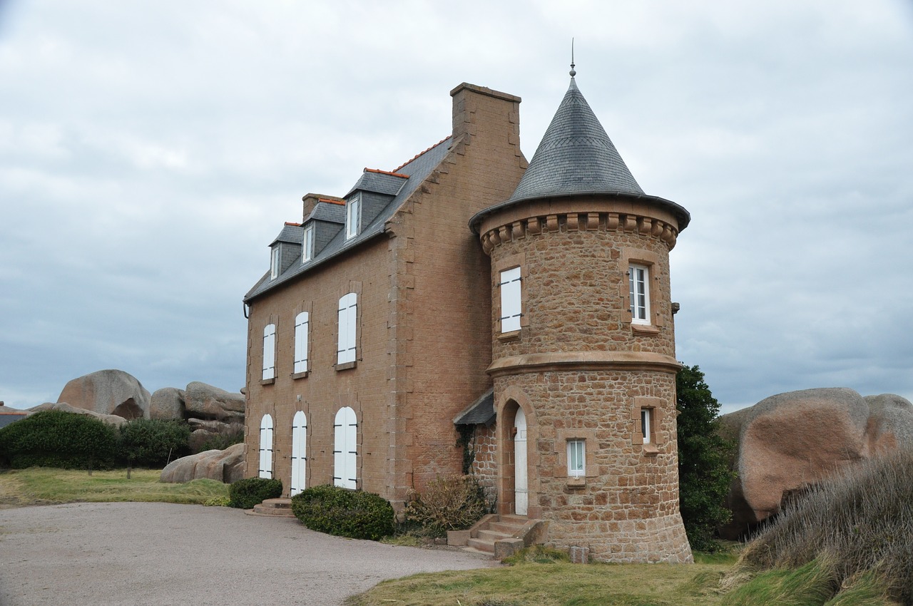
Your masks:
[{"label": "wide dark green bush at the far left edge", "polygon": [[0,429],[0,458],[14,469],[110,469],[117,455],[117,430],[88,414],[44,411]]}]

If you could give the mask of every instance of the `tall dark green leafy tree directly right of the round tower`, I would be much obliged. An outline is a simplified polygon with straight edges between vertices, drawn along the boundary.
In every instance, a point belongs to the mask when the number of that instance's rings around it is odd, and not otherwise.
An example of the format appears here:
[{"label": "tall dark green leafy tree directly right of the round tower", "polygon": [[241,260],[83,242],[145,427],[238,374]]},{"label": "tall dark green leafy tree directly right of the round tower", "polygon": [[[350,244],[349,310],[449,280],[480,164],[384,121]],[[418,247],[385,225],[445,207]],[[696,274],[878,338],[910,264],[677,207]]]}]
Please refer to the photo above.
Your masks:
[{"label": "tall dark green leafy tree directly right of the round tower", "polygon": [[698,366],[676,375],[678,409],[678,507],[693,549],[719,550],[714,532],[729,521],[724,506],[733,474],[734,444],[717,432],[719,402]]}]

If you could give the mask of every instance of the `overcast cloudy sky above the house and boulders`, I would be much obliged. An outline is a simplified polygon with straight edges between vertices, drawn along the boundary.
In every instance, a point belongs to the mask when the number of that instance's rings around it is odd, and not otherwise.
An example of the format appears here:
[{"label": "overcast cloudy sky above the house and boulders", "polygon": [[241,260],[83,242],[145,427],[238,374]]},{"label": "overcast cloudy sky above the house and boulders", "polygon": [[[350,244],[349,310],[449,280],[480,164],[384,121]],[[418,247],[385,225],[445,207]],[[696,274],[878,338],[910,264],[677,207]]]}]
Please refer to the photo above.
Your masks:
[{"label": "overcast cloudy sky above the house and boulders", "polygon": [[0,400],[130,372],[245,381],[241,299],[304,193],[519,95],[531,158],[577,84],[685,206],[677,358],[724,412],[913,399],[913,3],[0,0]]}]

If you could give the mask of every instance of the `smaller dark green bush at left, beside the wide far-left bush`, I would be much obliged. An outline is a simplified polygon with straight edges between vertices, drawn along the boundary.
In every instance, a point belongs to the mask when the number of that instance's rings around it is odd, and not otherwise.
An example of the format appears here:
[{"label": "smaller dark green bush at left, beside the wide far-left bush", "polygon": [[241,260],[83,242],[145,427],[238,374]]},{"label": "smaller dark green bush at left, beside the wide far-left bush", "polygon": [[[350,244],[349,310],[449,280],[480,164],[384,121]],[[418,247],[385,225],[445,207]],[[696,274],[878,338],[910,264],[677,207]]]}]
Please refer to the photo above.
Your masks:
[{"label": "smaller dark green bush at left, beside the wide far-left bush", "polygon": [[131,465],[163,467],[189,454],[190,427],[181,421],[134,419],[121,425],[121,458]]}]

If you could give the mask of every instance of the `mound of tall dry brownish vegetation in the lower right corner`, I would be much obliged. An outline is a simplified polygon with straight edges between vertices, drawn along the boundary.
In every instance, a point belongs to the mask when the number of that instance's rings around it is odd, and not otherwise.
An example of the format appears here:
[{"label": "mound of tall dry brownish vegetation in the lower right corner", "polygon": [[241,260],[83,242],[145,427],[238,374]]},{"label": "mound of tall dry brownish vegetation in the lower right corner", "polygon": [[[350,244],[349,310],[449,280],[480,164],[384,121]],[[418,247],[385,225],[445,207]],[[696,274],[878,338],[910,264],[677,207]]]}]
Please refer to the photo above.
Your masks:
[{"label": "mound of tall dry brownish vegetation in the lower right corner", "polygon": [[913,450],[846,468],[783,507],[742,552],[740,569],[833,562],[834,587],[874,575],[913,603]]}]

